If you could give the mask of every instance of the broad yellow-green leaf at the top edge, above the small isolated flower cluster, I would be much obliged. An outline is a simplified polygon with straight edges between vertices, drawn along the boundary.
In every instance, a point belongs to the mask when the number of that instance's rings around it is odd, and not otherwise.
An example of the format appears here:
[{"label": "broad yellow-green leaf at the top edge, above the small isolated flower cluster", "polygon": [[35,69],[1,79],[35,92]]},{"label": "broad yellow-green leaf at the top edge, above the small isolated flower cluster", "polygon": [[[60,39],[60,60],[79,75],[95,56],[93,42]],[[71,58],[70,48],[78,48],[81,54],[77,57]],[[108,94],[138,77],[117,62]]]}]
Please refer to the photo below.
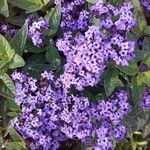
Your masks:
[{"label": "broad yellow-green leaf at the top edge, above the small isolated flower cluster", "polygon": [[43,7],[42,0],[8,0],[12,5],[25,9],[26,13],[40,10]]}]

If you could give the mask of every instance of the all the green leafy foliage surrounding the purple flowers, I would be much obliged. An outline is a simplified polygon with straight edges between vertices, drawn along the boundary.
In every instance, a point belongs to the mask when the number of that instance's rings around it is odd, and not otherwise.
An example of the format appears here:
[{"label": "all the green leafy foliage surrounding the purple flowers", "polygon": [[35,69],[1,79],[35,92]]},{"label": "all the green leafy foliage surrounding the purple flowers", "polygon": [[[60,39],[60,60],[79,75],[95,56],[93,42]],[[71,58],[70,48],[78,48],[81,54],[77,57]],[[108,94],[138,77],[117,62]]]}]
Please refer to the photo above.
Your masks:
[{"label": "all the green leafy foliage surrounding the purple flowers", "polygon": [[[116,6],[123,3],[123,0],[108,1]],[[140,0],[130,1],[134,4],[137,19],[136,28],[128,33],[128,38],[136,42],[135,57],[129,66],[117,65],[113,61],[106,64],[102,80],[96,86],[86,87],[84,95],[97,101],[111,96],[119,88],[126,89],[133,110],[123,121],[129,134],[117,143],[116,150],[148,150],[150,112],[141,110],[139,103],[145,87],[150,87],[150,12],[141,5]],[[95,3],[95,0],[86,0],[86,7]],[[30,13],[35,18],[42,15],[49,22],[50,28],[43,33],[45,43],[42,47],[34,46],[28,38],[29,24],[25,19]],[[56,47],[57,39],[64,32],[60,27],[61,4],[55,5],[52,0],[0,0],[0,18],[0,25],[5,23],[17,31],[11,38],[7,33],[0,34],[0,149],[25,150],[26,141],[10,126],[10,121],[20,112],[15,103],[15,86],[10,75],[16,69],[28,72],[37,79],[45,70],[53,70],[57,76],[63,72],[66,57]],[[79,147],[87,149],[80,144]],[[72,149],[75,149],[74,146]]]}]

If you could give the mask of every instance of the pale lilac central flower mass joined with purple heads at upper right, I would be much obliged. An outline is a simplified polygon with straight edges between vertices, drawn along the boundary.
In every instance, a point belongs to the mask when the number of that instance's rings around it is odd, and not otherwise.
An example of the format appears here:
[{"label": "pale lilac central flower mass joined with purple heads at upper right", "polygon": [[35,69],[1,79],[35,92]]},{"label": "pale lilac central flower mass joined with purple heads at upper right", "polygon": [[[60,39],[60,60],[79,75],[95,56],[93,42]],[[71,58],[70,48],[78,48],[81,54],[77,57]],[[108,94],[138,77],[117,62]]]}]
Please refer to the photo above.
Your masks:
[{"label": "pale lilac central flower mass joined with purple heads at upper right", "polygon": [[108,61],[127,66],[135,56],[135,42],[127,39],[127,32],[136,25],[132,4],[117,8],[99,0],[90,9],[100,20],[99,26],[88,26],[84,34],[75,36],[66,32],[57,41],[58,50],[67,58],[60,78],[66,91],[71,85],[78,90],[94,86],[101,80]]}]

